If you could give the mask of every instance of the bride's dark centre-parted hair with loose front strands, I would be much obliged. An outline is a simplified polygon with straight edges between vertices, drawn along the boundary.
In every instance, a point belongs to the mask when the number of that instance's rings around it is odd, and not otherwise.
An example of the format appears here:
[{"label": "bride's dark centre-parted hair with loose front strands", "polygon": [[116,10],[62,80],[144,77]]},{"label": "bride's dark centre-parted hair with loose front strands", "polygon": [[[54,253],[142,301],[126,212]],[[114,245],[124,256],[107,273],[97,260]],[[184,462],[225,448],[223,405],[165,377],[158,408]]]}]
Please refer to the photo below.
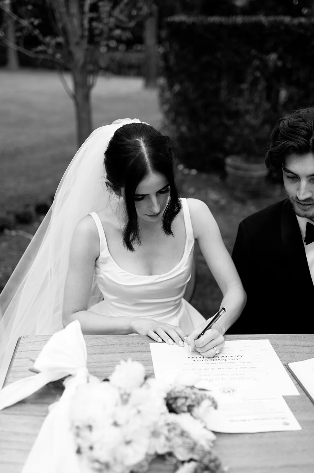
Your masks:
[{"label": "bride's dark centre-parted hair with loose front strands", "polygon": [[172,235],[172,222],[181,210],[175,184],[175,153],[168,136],[145,123],[127,123],[118,128],[105,151],[104,166],[107,187],[120,194],[124,188],[127,223],[123,229],[123,243],[135,251],[134,243],[141,243],[141,233],[135,206],[138,184],[148,175],[163,175],[170,185],[170,199],[161,219],[161,228]]}]

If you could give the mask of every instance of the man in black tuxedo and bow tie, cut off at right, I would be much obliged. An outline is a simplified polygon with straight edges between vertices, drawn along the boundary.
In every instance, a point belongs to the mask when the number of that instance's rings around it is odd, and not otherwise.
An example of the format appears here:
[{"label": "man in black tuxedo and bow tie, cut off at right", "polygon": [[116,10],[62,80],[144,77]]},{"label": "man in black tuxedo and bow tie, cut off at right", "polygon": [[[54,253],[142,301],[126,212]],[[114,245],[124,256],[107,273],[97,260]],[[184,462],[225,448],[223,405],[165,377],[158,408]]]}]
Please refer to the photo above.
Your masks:
[{"label": "man in black tuxedo and bow tie, cut off at right", "polygon": [[314,333],[314,107],[281,118],[266,166],[288,199],[244,219],[232,258],[247,303],[228,333]]}]

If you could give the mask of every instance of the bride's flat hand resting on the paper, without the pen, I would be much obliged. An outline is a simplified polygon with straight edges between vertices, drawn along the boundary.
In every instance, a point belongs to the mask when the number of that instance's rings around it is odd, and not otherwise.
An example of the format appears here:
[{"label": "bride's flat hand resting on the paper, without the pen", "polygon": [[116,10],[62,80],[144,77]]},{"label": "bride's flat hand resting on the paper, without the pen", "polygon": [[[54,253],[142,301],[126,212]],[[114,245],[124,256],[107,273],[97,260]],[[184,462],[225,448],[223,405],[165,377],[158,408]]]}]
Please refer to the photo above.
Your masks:
[{"label": "bride's flat hand resting on the paper, without the pen", "polygon": [[156,342],[161,343],[164,341],[169,345],[173,345],[173,342],[175,342],[179,347],[184,346],[186,334],[180,327],[175,325],[164,324],[153,319],[136,317],[132,321],[132,327],[134,332],[138,333],[138,335],[148,335]]}]

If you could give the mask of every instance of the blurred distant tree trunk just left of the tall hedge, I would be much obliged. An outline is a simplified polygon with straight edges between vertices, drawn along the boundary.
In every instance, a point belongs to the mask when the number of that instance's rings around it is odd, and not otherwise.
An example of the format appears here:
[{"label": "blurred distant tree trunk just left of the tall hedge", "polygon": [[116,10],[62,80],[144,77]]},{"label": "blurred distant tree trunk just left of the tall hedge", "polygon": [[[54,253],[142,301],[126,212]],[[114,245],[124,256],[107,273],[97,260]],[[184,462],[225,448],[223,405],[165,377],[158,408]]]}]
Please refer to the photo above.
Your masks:
[{"label": "blurred distant tree trunk just left of the tall hedge", "polygon": [[157,86],[158,68],[158,8],[152,5],[152,14],[146,18],[144,25],[145,42],[145,87],[155,88]]}]

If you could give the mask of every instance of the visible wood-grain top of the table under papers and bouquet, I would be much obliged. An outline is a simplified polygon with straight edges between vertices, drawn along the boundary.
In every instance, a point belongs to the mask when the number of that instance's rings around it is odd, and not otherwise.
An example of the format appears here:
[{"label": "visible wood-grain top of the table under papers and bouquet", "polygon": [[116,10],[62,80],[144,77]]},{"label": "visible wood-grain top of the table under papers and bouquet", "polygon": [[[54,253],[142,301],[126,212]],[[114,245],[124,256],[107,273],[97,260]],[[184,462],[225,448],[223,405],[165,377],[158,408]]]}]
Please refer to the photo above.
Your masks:
[{"label": "visible wood-grain top of the table under papers and bouquet", "polygon": [[[87,335],[87,367],[100,378],[110,375],[120,359],[143,363],[153,375],[151,340],[139,335]],[[314,357],[314,335],[227,335],[226,340],[269,339],[282,363]],[[21,337],[8,370],[7,383],[31,376],[30,358],[35,358],[49,336]],[[289,372],[288,372],[289,373]],[[290,373],[289,376],[291,377]],[[216,434],[214,450],[229,473],[313,473],[314,404],[294,380],[300,396],[286,396],[300,431],[255,434]],[[20,473],[28,452],[47,415],[48,405],[61,394],[47,385],[25,401],[0,412],[0,472]],[[44,473],[44,472],[43,472]],[[71,473],[71,472],[69,472]]]}]

